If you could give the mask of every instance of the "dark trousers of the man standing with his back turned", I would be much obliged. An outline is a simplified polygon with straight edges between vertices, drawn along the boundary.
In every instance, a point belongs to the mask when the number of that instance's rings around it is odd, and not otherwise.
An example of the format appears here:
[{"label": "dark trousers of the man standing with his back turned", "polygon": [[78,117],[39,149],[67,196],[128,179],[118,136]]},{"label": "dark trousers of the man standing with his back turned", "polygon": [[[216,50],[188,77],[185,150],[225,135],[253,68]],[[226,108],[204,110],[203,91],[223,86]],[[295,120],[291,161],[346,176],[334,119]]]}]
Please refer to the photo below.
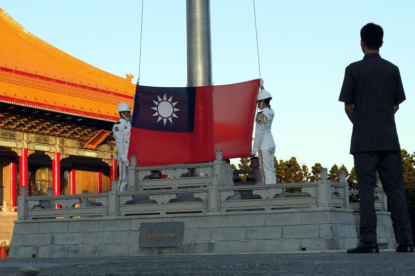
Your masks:
[{"label": "dark trousers of the man standing with his back turned", "polygon": [[369,151],[353,154],[360,196],[360,240],[376,240],[374,188],[376,171],[391,206],[398,242],[412,240],[411,221],[405,197],[400,151]]}]

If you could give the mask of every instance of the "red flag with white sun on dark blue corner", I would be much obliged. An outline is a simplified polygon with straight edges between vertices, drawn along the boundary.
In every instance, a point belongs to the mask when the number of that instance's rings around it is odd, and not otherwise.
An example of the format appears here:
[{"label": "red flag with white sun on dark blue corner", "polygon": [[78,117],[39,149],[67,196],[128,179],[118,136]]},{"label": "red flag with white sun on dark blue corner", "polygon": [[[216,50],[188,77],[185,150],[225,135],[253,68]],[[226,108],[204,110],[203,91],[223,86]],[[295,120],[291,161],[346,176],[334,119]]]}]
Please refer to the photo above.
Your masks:
[{"label": "red flag with white sun on dark blue corner", "polygon": [[249,156],[259,80],[202,87],[137,86],[129,155],[137,166]]}]

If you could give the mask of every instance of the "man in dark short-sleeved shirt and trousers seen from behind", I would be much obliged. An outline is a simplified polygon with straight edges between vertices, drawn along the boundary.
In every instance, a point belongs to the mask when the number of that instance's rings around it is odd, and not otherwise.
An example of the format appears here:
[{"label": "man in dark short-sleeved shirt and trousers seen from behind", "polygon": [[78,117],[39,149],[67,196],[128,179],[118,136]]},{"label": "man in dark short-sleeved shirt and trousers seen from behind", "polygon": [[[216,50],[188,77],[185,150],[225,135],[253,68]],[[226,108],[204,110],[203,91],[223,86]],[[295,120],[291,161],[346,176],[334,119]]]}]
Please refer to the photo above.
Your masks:
[{"label": "man in dark short-sleeved shirt and trousers seen from behind", "polygon": [[403,166],[394,114],[405,101],[398,67],[382,59],[383,30],[373,23],[360,31],[363,60],[346,68],[339,101],[353,123],[350,153],[359,185],[360,240],[347,253],[377,253],[374,188],[376,171],[391,205],[397,252],[414,252],[405,198]]}]

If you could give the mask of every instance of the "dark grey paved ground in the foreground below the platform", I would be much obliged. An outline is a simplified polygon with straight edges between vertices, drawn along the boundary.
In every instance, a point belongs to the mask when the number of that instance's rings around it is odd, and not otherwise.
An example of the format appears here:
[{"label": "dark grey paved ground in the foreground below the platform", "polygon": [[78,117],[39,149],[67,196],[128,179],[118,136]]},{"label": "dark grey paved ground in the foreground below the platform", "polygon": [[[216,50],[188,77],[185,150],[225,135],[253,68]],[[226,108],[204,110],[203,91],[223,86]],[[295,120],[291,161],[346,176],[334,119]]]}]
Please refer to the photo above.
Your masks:
[{"label": "dark grey paved ground in the foreground below the platform", "polygon": [[115,258],[0,259],[0,275],[34,267],[39,276],[110,275],[415,275],[415,253],[292,252],[153,255]]}]

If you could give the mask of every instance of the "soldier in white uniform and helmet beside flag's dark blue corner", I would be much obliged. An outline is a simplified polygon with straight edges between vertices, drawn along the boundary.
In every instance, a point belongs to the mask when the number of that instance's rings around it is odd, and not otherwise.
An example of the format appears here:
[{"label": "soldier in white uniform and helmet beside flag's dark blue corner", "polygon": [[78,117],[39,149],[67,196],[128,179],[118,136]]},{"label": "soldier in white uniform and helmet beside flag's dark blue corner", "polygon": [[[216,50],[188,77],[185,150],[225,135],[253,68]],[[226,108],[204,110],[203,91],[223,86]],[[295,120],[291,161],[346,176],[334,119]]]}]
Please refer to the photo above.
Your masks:
[{"label": "soldier in white uniform and helmet beside flag's dark blue corner", "polygon": [[113,133],[117,146],[120,173],[118,191],[126,191],[128,186],[127,167],[129,166],[128,147],[131,134],[131,108],[127,103],[120,103],[117,111],[120,113],[120,121],[114,124]]}]

